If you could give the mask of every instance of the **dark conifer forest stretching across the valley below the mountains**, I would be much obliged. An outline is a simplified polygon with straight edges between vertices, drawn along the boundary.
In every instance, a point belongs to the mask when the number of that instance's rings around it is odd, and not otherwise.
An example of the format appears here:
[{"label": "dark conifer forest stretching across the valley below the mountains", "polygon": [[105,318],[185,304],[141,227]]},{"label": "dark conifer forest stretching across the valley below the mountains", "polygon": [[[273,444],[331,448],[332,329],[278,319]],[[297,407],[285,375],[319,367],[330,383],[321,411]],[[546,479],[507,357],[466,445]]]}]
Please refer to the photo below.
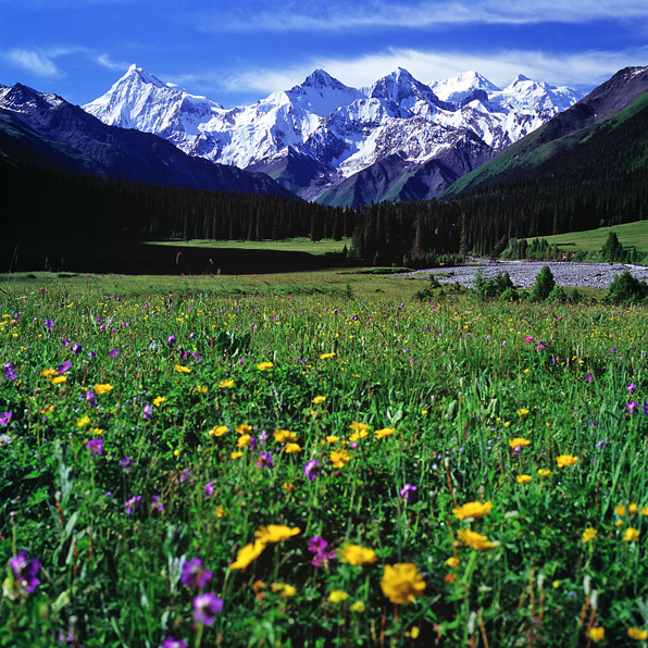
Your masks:
[{"label": "dark conifer forest stretching across the valley below the mountains", "polygon": [[[299,199],[100,178],[0,160],[5,247],[55,239],[262,240],[352,236],[350,254],[374,265],[488,256],[511,238],[648,217],[648,107],[506,180],[449,201],[382,202],[356,210]],[[503,248],[502,248],[503,249]]]}]

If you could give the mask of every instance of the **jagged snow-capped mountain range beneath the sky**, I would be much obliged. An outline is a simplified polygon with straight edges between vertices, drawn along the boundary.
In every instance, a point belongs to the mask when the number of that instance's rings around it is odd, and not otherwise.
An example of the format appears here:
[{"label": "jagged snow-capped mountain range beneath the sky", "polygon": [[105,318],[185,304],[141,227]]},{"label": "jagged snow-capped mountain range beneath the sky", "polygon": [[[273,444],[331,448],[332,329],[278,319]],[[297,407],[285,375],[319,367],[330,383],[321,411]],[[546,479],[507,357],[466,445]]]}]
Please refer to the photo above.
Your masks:
[{"label": "jagged snow-capped mountain range beneath the sky", "polygon": [[[264,171],[308,200],[326,201],[334,187],[388,159],[392,183],[346,202],[356,205],[387,195],[404,199],[394,191],[403,174],[443,158],[447,179],[435,179],[437,192],[581,98],[522,75],[500,89],[476,72],[423,84],[399,67],[357,89],[315,70],[289,90],[225,109],[132,65],[83,108],[105,124],[154,133],[190,155]],[[453,166],[453,159],[461,163]],[[423,192],[429,197],[429,185]]]}]

